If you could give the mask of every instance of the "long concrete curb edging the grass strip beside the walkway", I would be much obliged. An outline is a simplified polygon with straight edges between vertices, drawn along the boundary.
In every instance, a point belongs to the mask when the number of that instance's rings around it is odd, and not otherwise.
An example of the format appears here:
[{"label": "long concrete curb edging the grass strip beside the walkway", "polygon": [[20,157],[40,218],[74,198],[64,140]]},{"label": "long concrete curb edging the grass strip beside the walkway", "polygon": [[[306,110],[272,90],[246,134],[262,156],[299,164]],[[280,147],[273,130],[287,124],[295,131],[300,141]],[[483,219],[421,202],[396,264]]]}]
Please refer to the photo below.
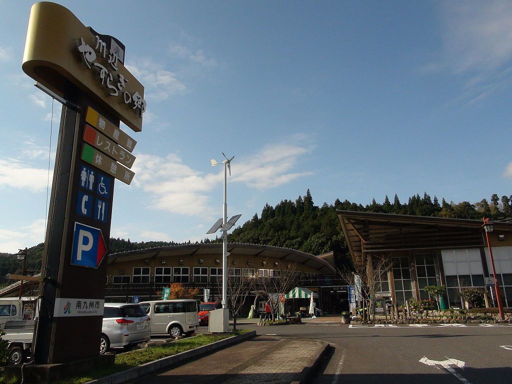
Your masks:
[{"label": "long concrete curb edging the grass strip beside the walkway", "polygon": [[133,367],[122,372],[113,373],[112,375],[101,377],[96,380],[91,380],[88,381],[86,384],[119,384],[128,380],[133,380],[139,376],[147,375],[148,373],[158,371],[162,368],[172,366],[180,361],[197,357],[207,352],[215,351],[217,349],[226,347],[231,344],[236,344],[242,340],[252,338],[254,336],[256,336],[255,330],[238,336],[228,337],[223,340],[219,340],[218,342],[205,345],[203,347],[191,349],[189,351],[181,352],[173,356],[164,357],[159,360],[146,362],[146,364],[143,364],[138,367]]}]

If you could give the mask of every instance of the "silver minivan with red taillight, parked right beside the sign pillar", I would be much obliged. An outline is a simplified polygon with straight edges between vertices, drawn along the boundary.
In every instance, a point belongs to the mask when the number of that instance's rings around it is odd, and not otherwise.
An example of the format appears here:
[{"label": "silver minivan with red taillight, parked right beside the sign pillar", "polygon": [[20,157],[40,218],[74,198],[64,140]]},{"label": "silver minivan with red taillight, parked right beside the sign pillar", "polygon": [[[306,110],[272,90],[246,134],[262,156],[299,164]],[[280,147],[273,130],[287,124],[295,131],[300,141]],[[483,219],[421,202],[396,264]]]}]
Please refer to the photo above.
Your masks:
[{"label": "silver minivan with red taillight, parked right beside the sign pillar", "polygon": [[114,347],[128,348],[147,342],[150,339],[150,321],[139,304],[105,303],[100,353]]}]

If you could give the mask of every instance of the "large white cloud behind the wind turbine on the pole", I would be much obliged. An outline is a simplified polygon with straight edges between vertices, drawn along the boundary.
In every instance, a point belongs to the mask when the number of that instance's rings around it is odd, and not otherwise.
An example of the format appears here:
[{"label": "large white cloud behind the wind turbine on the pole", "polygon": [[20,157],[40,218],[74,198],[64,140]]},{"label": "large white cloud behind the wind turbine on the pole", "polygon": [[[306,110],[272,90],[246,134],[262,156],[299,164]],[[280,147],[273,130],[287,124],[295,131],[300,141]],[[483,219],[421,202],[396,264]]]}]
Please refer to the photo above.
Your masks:
[{"label": "large white cloud behind the wind turbine on the pole", "polygon": [[[300,158],[310,152],[310,147],[299,144],[268,145],[254,156],[237,159],[233,163],[237,170],[230,182],[263,190],[311,175],[311,172],[293,172]],[[141,154],[137,158],[133,169],[137,174],[134,185],[148,194],[148,205],[152,209],[184,216],[205,216],[214,212],[209,205],[209,192],[218,186],[219,174],[224,172],[222,166],[215,174],[203,174],[183,164],[175,154],[164,158]]]}]

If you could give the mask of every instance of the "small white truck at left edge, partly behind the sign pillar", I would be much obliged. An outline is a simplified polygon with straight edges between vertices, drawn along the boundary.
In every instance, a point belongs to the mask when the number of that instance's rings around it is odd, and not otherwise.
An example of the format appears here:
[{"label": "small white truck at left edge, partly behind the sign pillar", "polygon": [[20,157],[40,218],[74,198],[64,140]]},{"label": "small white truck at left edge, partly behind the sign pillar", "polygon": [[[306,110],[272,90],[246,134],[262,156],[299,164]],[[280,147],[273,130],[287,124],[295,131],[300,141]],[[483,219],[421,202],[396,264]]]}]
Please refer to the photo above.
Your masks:
[{"label": "small white truck at left edge, partly behind the sign pillar", "polygon": [[1,297],[0,330],[8,342],[9,364],[21,364],[30,356],[34,336],[35,301],[33,298]]}]

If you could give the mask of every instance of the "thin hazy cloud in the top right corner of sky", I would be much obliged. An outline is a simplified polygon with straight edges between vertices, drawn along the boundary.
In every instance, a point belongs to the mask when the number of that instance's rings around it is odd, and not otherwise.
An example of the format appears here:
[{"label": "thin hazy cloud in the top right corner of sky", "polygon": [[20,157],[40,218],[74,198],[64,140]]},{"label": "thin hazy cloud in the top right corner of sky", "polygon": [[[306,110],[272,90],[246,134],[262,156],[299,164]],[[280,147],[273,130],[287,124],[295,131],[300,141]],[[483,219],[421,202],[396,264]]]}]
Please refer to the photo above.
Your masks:
[{"label": "thin hazy cloud in the top right corner of sky", "polygon": [[448,72],[460,78],[459,100],[472,104],[512,81],[512,5],[509,0],[443,2],[442,50],[421,72]]}]

